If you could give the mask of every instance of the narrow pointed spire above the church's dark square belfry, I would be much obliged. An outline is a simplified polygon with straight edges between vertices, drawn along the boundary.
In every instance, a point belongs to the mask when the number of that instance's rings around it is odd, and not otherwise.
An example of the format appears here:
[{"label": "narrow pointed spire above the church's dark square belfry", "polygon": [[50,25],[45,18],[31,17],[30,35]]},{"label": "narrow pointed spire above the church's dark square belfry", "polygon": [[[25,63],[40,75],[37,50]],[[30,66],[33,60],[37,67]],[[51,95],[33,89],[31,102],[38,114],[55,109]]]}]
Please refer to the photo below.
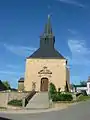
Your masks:
[{"label": "narrow pointed spire above the church's dark square belfry", "polygon": [[48,15],[48,21],[47,21],[47,23],[45,25],[45,30],[44,30],[44,35],[45,36],[49,36],[49,35],[53,34],[52,33],[52,26],[51,26],[51,20],[50,20],[50,18],[51,18],[51,15],[49,14]]}]

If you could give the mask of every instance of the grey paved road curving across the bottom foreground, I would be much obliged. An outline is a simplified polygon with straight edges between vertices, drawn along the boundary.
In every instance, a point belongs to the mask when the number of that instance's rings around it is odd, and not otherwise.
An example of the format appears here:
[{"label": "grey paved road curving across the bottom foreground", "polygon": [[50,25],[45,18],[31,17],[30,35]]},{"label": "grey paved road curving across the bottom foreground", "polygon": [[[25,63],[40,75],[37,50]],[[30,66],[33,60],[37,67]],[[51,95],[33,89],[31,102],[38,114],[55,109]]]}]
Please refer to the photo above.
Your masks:
[{"label": "grey paved road curving across the bottom foreground", "polygon": [[37,114],[0,113],[0,117],[7,117],[10,120],[90,120],[90,101],[79,103],[58,111]]}]

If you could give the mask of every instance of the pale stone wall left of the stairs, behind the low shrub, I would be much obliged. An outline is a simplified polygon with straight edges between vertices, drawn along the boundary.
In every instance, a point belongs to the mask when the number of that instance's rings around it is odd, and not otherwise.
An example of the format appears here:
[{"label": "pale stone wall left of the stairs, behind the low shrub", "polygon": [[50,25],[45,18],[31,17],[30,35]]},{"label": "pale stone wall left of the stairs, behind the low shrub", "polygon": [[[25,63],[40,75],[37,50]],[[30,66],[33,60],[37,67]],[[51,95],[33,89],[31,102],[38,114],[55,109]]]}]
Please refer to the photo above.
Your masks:
[{"label": "pale stone wall left of the stairs, behind the low shrub", "polygon": [[7,107],[9,101],[13,99],[20,100],[28,94],[28,92],[0,92],[0,107]]}]

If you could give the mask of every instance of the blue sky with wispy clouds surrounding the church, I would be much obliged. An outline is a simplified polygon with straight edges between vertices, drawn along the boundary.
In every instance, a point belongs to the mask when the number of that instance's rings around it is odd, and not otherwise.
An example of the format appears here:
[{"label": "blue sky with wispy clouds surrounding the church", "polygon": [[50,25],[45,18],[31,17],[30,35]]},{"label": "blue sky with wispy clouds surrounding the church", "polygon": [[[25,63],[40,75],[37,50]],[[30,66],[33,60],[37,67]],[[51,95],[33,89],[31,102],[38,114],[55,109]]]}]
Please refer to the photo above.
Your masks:
[{"label": "blue sky with wispy clouds surrounding the church", "polygon": [[24,77],[26,57],[39,47],[48,14],[71,83],[90,75],[90,0],[0,0],[0,79],[12,87]]}]

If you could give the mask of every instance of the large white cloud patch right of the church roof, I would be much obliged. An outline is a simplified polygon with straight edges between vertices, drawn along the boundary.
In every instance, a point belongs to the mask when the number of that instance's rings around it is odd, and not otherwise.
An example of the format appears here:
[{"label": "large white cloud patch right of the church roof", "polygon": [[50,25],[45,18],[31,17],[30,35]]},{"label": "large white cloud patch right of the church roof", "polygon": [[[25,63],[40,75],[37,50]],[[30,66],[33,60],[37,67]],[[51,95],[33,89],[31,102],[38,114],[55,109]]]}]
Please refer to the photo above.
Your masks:
[{"label": "large white cloud patch right of the church roof", "polygon": [[84,40],[68,40],[68,46],[72,53],[72,58],[68,57],[71,65],[90,64],[90,49]]}]

